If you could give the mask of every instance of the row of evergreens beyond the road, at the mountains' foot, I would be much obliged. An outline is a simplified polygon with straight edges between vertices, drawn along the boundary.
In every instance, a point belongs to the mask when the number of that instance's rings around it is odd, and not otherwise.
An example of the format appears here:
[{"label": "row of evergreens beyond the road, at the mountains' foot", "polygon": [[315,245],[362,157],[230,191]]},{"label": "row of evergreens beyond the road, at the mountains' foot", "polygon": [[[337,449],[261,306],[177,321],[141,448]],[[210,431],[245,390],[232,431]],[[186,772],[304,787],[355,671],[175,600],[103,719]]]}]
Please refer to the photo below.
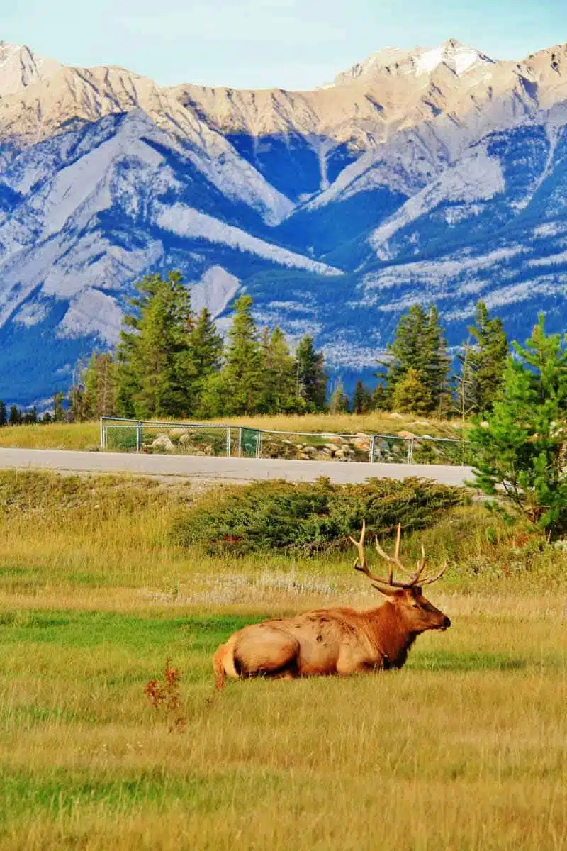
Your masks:
[{"label": "row of evergreens beyond the road, at the mountains' foot", "polygon": [[[68,393],[54,397],[41,421],[99,416],[198,418],[242,414],[305,414],[330,410],[394,410],[466,418],[490,408],[502,384],[508,342],[502,321],[479,302],[468,341],[451,357],[434,306],[411,306],[378,360],[377,386],[359,380],[349,399],[339,380],[327,397],[322,351],[309,334],[292,354],[281,328],[260,330],[252,298],[235,300],[226,341],[207,308],[192,310],[190,289],[178,271],[144,277],[116,351],[94,352],[80,363]],[[9,412],[0,403],[0,426],[37,422],[37,412]]]}]

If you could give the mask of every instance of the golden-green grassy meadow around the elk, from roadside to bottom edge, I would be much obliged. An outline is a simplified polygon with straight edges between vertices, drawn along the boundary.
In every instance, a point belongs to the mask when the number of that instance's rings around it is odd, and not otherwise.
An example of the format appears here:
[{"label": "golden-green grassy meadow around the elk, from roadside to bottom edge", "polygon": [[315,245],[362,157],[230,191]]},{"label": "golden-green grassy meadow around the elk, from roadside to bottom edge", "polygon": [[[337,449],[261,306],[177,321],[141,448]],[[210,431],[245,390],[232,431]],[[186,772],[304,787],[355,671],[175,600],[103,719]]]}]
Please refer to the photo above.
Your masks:
[{"label": "golden-green grassy meadow around the elk, from roadside to bottom edge", "polygon": [[[422,534],[453,625],[402,671],[214,694],[238,626],[377,598],[346,556],[181,551],[198,498],[0,473],[1,848],[567,848],[564,551],[455,510]],[[173,733],[144,694],[167,658]]]}]

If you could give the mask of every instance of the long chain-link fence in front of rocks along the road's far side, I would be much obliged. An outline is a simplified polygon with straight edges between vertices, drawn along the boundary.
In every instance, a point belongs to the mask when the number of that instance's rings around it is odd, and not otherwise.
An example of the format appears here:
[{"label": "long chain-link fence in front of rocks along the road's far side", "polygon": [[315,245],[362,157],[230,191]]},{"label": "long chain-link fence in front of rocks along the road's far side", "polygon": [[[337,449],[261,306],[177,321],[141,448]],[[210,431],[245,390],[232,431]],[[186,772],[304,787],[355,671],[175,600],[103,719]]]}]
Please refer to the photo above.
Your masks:
[{"label": "long chain-link fence in front of rocks along the road's far side", "polygon": [[440,437],[265,431],[213,423],[100,420],[100,445],[110,452],[217,455],[312,461],[466,465],[467,443]]}]

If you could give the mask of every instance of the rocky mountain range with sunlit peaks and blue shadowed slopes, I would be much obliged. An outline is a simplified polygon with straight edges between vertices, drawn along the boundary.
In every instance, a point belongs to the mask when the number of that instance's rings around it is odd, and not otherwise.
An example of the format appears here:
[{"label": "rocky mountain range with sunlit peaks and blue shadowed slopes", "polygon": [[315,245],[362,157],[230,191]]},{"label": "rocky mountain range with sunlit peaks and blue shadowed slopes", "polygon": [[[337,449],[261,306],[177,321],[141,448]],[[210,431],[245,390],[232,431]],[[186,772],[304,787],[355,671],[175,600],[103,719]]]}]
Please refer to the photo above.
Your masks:
[{"label": "rocky mountain range with sunlit peaks and blue shadowed slopes", "polygon": [[160,87],[0,42],[0,398],[41,405],[179,269],[218,326],[309,332],[371,374],[400,313],[451,346],[483,298],[519,340],[567,319],[567,46],[388,48],[309,92]]}]

